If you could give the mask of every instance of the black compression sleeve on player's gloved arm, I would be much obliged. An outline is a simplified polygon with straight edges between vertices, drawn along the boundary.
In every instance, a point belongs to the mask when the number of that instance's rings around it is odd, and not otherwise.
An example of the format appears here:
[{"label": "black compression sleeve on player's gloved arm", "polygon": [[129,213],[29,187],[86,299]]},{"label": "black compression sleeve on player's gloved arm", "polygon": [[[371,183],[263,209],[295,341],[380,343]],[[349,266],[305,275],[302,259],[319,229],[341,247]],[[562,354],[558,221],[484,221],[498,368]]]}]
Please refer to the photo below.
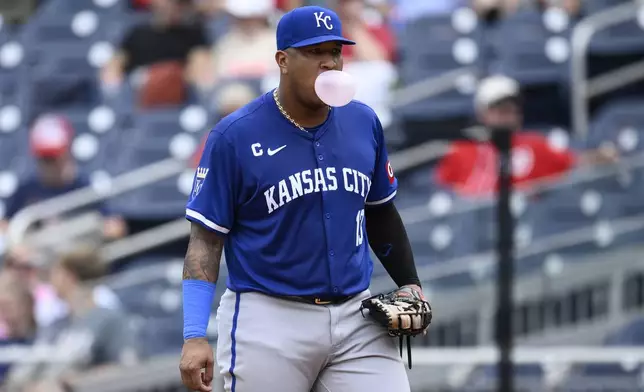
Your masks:
[{"label": "black compression sleeve on player's gloved arm", "polygon": [[365,209],[369,245],[398,287],[420,286],[411,244],[393,203]]}]

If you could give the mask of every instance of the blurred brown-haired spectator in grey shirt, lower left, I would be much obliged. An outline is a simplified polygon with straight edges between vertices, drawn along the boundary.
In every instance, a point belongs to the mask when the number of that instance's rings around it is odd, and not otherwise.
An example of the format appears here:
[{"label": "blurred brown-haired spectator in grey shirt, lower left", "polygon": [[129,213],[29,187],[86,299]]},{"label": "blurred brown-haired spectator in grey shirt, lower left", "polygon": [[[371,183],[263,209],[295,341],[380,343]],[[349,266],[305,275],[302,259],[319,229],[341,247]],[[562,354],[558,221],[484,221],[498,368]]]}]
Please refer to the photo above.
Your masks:
[{"label": "blurred brown-haired spectator in grey shirt, lower left", "polygon": [[51,282],[70,314],[39,332],[34,346],[53,347],[65,358],[16,366],[10,385],[51,383],[97,366],[136,361],[135,333],[126,315],[98,306],[91,294],[93,282],[105,272],[105,264],[89,248],[65,254],[54,264]]}]

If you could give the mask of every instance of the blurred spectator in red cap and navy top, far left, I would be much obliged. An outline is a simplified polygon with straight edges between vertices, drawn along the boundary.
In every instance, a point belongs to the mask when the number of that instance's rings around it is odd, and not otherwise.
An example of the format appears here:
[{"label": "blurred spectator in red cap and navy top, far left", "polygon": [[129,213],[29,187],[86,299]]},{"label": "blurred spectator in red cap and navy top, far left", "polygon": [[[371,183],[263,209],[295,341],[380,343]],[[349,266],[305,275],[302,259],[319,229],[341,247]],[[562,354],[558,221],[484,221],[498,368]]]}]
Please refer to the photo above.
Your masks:
[{"label": "blurred spectator in red cap and navy top, far left", "polygon": [[[71,124],[62,116],[48,114],[36,119],[31,129],[30,149],[36,159],[37,172],[27,176],[7,200],[7,219],[31,204],[90,185],[71,156],[73,132]],[[94,208],[102,209],[102,206]],[[59,218],[43,220],[40,225],[54,223]],[[0,233],[7,226],[8,221],[0,221]],[[103,235],[106,239],[121,237],[126,231],[123,219],[116,216],[105,217]]]}]

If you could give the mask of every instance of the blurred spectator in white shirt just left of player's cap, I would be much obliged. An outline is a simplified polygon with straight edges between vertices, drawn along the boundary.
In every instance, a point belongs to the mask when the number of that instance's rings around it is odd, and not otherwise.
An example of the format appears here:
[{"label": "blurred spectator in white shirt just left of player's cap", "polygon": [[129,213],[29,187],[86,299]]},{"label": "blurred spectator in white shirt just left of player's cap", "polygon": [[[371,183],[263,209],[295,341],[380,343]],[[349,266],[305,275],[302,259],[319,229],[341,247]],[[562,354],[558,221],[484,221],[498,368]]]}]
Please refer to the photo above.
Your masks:
[{"label": "blurred spectator in white shirt just left of player's cap", "polygon": [[230,30],[212,50],[209,86],[226,78],[261,79],[279,72],[275,63],[275,29],[269,17],[275,12],[273,0],[226,0],[232,17]]}]

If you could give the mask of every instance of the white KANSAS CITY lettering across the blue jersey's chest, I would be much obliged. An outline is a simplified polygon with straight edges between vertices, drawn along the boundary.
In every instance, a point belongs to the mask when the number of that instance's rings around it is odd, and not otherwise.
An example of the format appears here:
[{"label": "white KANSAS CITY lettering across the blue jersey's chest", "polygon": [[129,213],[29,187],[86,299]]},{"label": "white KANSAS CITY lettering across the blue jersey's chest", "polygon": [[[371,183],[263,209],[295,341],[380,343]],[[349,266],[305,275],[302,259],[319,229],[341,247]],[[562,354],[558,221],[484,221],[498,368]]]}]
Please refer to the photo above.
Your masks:
[{"label": "white KANSAS CITY lettering across the blue jersey's chest", "polygon": [[347,167],[343,167],[340,173],[335,167],[317,168],[291,174],[264,191],[268,213],[303,195],[337,191],[338,177],[345,191],[358,194],[366,200],[371,188],[371,179],[366,174]]}]

